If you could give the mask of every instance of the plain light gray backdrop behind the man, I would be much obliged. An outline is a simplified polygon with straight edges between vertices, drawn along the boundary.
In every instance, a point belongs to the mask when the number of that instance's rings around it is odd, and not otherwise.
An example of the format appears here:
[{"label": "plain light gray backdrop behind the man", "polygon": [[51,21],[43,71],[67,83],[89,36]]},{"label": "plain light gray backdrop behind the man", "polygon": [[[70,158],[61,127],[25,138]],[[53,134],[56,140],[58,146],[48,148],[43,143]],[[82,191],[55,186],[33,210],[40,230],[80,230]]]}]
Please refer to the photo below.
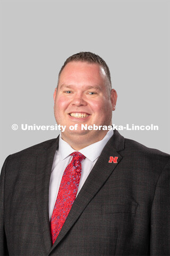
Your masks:
[{"label": "plain light gray backdrop behind the man", "polygon": [[118,94],[113,123],[159,126],[121,134],[169,152],[168,1],[5,0],[1,15],[1,165],[58,135],[20,126],[55,125],[57,74],[79,51],[99,54],[111,70]]}]

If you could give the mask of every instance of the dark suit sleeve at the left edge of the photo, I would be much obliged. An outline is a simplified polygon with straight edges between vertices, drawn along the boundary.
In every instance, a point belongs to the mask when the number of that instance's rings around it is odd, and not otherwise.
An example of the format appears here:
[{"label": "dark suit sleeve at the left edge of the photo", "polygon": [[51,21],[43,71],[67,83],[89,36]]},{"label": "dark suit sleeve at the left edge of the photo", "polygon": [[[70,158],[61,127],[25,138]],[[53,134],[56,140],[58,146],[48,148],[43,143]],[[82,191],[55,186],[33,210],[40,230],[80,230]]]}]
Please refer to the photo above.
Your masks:
[{"label": "dark suit sleeve at the left edge of the photo", "polygon": [[6,236],[5,236],[5,228],[4,228],[4,187],[5,187],[5,167],[7,163],[6,158],[4,165],[1,171],[1,178],[0,178],[0,249],[1,249],[1,256],[9,255],[7,250],[7,243],[6,243]]}]

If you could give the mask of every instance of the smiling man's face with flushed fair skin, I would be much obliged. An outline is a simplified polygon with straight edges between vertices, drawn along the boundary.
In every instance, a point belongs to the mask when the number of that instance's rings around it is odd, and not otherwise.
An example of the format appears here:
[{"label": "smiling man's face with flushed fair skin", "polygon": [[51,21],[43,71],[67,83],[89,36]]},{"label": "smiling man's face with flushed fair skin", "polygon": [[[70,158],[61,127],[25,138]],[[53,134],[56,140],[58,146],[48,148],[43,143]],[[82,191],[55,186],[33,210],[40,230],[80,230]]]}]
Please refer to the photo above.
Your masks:
[{"label": "smiling man's face with flushed fair skin", "polygon": [[[81,124],[111,125],[117,94],[107,85],[105,71],[96,63],[72,61],[64,67],[54,92],[57,124],[66,125],[62,138],[70,142],[87,140],[89,145],[104,138],[107,131],[81,130]],[[78,124],[71,131],[71,125]]]}]

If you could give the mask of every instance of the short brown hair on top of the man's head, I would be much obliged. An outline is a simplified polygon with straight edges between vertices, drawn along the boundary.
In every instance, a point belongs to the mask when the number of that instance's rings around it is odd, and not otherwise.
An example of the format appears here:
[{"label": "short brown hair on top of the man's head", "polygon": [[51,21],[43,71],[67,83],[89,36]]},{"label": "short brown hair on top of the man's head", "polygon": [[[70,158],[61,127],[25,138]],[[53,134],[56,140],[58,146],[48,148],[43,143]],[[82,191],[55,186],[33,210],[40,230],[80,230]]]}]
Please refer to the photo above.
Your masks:
[{"label": "short brown hair on top of the man's head", "polygon": [[67,65],[67,63],[69,63],[71,61],[98,63],[101,67],[104,68],[108,82],[109,82],[109,86],[112,89],[111,73],[110,73],[110,70],[109,70],[106,62],[99,55],[92,53],[92,52],[79,52],[79,53],[75,53],[72,56],[70,56],[69,58],[67,58],[58,74],[58,81],[59,81],[60,75],[62,73],[62,70]]}]

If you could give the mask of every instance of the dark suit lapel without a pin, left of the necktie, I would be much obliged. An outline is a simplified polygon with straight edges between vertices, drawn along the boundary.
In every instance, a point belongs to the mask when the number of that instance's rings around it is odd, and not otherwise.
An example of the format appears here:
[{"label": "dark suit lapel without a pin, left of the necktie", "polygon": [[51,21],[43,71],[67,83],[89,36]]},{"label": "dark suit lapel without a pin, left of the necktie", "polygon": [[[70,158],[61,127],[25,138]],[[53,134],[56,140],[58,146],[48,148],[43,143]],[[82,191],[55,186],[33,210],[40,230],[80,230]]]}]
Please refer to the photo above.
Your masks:
[{"label": "dark suit lapel without a pin, left of the necktie", "polygon": [[48,212],[49,181],[57,147],[58,138],[53,141],[52,145],[45,147],[43,152],[37,156],[36,198],[41,232],[47,252],[52,247]]}]

